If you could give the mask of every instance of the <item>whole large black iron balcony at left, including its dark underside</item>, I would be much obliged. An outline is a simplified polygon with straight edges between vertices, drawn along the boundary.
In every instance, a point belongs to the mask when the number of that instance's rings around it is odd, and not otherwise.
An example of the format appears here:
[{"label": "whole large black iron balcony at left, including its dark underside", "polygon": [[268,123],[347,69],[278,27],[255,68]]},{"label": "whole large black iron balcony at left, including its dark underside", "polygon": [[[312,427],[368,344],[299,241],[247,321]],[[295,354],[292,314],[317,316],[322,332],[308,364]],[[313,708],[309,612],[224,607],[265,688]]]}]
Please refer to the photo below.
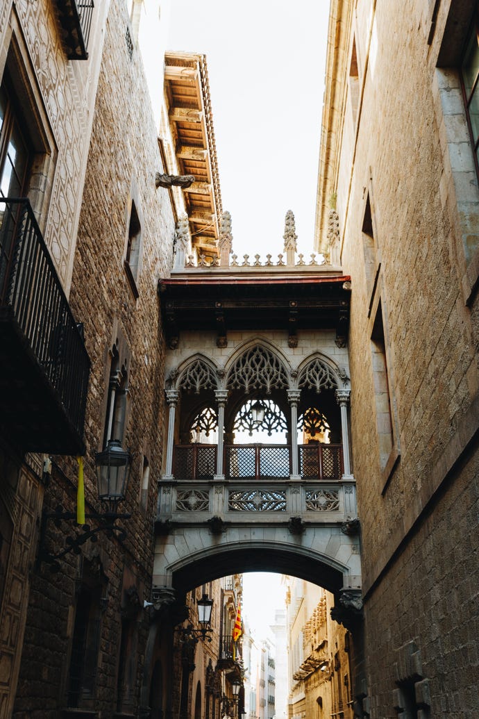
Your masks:
[{"label": "whole large black iron balcony at left, including its dark underside", "polygon": [[90,359],[29,201],[0,198],[0,423],[24,452],[83,454]]}]

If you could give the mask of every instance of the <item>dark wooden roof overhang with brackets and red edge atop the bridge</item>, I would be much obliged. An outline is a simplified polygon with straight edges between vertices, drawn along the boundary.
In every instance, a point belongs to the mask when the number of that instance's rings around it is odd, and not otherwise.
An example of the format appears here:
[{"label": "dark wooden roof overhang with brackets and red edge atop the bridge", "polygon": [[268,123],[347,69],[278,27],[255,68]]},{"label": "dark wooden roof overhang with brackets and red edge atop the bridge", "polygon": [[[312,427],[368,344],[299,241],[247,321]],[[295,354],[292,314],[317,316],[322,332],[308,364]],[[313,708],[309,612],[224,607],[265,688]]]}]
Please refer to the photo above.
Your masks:
[{"label": "dark wooden roof overhang with brackets and red edge atop the bridge", "polygon": [[281,278],[189,275],[160,280],[159,296],[170,348],[182,331],[215,331],[225,347],[228,331],[285,330],[295,346],[301,329],[334,329],[338,346],[348,334],[350,277]]}]

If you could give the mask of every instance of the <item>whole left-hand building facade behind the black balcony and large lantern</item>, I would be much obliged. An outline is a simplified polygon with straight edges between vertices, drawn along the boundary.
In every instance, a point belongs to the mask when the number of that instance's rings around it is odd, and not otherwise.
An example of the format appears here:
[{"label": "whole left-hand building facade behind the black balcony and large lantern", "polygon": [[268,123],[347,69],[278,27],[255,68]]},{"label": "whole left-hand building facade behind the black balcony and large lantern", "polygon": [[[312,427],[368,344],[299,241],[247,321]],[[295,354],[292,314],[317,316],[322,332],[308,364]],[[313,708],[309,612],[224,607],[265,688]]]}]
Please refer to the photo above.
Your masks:
[{"label": "whole left-hand building facade behind the black balcony and large lantern", "polygon": [[[19,410],[10,391],[1,406],[2,719],[137,714],[152,620],[143,602],[162,463],[157,281],[172,266],[185,206],[155,183],[167,171],[158,144],[162,73],[160,65],[152,99],[132,22],[138,8],[130,18],[123,1],[82,7],[90,14],[67,30],[69,3],[1,5],[1,362],[4,388],[19,387]],[[15,224],[17,197],[28,198],[18,205],[26,224]],[[20,228],[17,244],[11,226]],[[29,266],[43,269],[27,275],[30,246]],[[65,325],[51,319],[55,303]],[[18,328],[25,344],[10,341]],[[77,365],[65,374],[73,345]],[[96,454],[113,439],[131,456],[119,509],[131,516],[116,522],[126,537],[98,531],[108,517],[98,517]],[[83,456],[92,539],[65,551],[68,536],[88,534],[75,528],[75,455]]]}]

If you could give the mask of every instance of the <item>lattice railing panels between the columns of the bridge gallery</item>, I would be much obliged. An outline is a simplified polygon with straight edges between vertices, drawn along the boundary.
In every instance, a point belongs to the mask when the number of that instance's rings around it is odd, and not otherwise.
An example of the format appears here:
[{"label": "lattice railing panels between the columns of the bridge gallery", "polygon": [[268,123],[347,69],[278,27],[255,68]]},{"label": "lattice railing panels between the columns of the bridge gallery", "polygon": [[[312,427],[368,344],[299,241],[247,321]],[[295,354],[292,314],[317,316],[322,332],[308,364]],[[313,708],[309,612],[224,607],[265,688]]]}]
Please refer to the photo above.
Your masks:
[{"label": "lattice railing panels between the columns of the bridge gallery", "polygon": [[[176,445],[173,475],[177,480],[210,480],[216,471],[215,444]],[[340,480],[343,448],[340,444],[301,444],[299,472],[306,480]],[[225,446],[228,480],[287,479],[292,473],[291,446],[286,444],[230,444]]]}]

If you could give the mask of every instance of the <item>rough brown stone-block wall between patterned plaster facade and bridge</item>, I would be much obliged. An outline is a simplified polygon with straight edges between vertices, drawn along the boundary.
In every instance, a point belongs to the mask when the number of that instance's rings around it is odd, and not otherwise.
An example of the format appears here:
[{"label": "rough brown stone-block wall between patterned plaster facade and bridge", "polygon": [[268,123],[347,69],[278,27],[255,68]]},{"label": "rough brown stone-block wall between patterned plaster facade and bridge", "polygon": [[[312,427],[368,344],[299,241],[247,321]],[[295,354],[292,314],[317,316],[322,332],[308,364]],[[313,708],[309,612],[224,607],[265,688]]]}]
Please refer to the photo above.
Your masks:
[{"label": "rough brown stone-block wall between patterned plaster facade and bridge", "polygon": [[[129,21],[123,1],[109,7],[93,129],[81,198],[78,239],[73,264],[70,304],[83,322],[91,360],[85,419],[86,512],[98,506],[95,453],[103,448],[110,358],[113,345],[126,362],[128,393],[122,446],[132,454],[126,501],[118,508],[131,518],[121,520],[127,536],[123,544],[104,533],[88,541],[80,557],[69,554],[59,574],[45,563],[32,576],[24,656],[14,717],[27,714],[57,717],[65,710],[68,667],[73,644],[75,606],[85,566],[98,567],[104,585],[101,600],[100,644],[95,696],[90,709],[111,717],[118,710],[118,661],[122,620],[130,611],[137,649],[131,674],[131,705],[137,714],[149,615],[143,612],[150,598],[154,549],[153,521],[162,464],[164,425],[164,342],[159,319],[157,282],[172,265],[175,218],[166,190],[156,189],[154,176],[161,169],[151,102],[144,81],[141,57],[126,40]],[[158,68],[159,73],[162,68]],[[131,203],[141,224],[141,253],[136,287],[124,267]],[[136,290],[136,292],[134,291]],[[137,296],[136,296],[137,294]],[[144,475],[144,457],[149,482]],[[58,503],[75,510],[77,463],[54,457],[45,508]],[[92,520],[93,525],[96,520]],[[73,523],[50,525],[47,549],[59,551]],[[134,587],[138,605],[131,611],[127,590]],[[39,664],[42,665],[41,677]]]}]

